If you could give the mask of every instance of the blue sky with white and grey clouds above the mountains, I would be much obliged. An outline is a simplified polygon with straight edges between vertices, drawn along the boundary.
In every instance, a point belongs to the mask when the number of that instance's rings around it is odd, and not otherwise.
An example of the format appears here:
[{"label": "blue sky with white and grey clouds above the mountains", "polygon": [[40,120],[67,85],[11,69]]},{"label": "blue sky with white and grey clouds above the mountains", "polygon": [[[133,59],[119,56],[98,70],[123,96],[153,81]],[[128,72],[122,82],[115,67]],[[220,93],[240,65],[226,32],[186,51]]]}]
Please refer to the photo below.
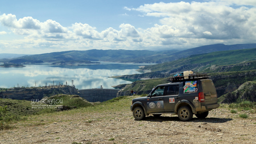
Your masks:
[{"label": "blue sky with white and grey clouds above the mountains", "polygon": [[256,43],[255,0],[0,1],[0,53]]}]

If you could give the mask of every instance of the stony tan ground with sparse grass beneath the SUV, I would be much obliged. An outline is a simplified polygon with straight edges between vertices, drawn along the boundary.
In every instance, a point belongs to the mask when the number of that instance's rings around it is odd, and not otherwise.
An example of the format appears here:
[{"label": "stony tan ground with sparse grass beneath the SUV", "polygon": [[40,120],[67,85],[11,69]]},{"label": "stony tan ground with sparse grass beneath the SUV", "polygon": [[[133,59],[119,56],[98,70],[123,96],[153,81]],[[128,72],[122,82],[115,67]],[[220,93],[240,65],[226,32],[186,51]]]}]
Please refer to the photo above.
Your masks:
[{"label": "stony tan ground with sparse grass beneath the SUV", "polygon": [[[31,117],[0,131],[0,143],[256,143],[256,114],[249,111],[232,114],[218,108],[189,122],[171,114],[136,121],[129,108]],[[249,117],[240,118],[240,113]]]}]

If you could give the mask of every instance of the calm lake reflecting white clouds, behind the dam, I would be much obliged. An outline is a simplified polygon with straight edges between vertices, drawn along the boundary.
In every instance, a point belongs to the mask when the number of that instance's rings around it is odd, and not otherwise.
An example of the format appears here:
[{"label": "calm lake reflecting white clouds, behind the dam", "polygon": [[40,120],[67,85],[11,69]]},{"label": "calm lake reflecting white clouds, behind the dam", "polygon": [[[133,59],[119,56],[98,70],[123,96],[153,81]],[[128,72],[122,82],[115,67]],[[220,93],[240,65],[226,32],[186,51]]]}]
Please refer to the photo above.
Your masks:
[{"label": "calm lake reflecting white clouds, behind the dam", "polygon": [[138,74],[139,66],[149,64],[107,63],[83,66],[34,64],[26,67],[0,67],[0,87],[49,86],[49,84],[72,84],[77,89],[114,89],[111,86],[132,83],[122,79],[108,78],[117,75]]}]

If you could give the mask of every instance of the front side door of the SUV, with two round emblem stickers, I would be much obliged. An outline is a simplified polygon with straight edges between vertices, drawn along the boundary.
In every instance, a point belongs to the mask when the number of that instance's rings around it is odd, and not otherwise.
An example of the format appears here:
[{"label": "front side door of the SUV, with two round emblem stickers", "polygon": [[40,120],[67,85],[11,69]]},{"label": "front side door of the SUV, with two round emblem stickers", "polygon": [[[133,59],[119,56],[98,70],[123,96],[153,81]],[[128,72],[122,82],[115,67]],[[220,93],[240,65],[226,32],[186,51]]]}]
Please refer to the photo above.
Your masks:
[{"label": "front side door of the SUV, with two round emblem stickers", "polygon": [[151,93],[152,97],[147,98],[147,110],[149,113],[164,113],[163,95],[165,85],[157,86]]}]

